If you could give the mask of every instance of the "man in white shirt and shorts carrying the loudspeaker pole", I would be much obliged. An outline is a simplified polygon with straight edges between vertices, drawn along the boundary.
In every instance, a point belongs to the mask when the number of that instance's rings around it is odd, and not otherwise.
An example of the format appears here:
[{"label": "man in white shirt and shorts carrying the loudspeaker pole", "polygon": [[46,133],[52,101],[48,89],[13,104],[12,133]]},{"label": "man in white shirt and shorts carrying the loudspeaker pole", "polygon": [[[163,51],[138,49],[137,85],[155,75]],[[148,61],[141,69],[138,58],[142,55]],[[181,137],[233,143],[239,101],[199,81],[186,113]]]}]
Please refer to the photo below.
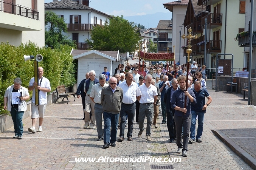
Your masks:
[{"label": "man in white shirt and shorts carrying the loudspeaker pole", "polygon": [[[28,128],[28,131],[32,133],[36,133],[36,119],[39,118],[39,127],[38,132],[42,132],[42,124],[43,117],[45,113],[45,108],[47,105],[47,92],[51,91],[50,81],[43,77],[43,68],[38,68],[38,83],[35,82],[35,77],[33,77],[29,82],[28,90],[33,90],[32,95],[32,104],[31,104],[31,119],[32,119],[32,127]],[[35,97],[35,89],[38,90],[39,93],[39,105],[36,105],[36,97]]]}]

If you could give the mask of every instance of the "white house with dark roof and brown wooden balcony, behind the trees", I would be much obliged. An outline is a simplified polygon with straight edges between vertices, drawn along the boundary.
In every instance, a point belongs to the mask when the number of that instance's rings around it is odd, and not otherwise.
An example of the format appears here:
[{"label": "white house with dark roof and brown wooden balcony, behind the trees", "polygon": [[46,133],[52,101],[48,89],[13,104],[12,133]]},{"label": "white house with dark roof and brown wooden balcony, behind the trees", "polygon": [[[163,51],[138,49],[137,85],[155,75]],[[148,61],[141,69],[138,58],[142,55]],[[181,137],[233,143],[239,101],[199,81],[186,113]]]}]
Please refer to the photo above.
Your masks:
[{"label": "white house with dark roof and brown wooden balcony, behind the trees", "polygon": [[63,34],[77,42],[77,49],[88,49],[86,39],[90,39],[93,26],[104,25],[111,17],[103,12],[89,7],[88,0],[53,0],[45,3],[45,11],[53,11],[64,18],[67,32]]}]

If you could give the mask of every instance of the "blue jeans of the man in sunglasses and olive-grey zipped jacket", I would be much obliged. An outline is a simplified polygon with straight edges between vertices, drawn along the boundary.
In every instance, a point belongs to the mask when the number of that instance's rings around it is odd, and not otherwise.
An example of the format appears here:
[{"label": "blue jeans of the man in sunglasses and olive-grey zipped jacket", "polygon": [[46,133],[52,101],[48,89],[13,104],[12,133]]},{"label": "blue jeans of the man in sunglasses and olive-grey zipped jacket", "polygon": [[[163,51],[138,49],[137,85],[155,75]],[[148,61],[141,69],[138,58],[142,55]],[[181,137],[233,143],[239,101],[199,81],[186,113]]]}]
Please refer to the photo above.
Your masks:
[{"label": "blue jeans of the man in sunglasses and olive-grey zipped jacket", "polygon": [[[112,144],[113,142],[116,142],[116,133],[117,133],[117,125],[118,125],[118,114],[112,114],[103,112],[103,120],[104,120],[104,137],[103,141],[104,144]],[[111,132],[110,132],[111,128]],[[110,139],[110,133],[111,133],[111,139]]]}]

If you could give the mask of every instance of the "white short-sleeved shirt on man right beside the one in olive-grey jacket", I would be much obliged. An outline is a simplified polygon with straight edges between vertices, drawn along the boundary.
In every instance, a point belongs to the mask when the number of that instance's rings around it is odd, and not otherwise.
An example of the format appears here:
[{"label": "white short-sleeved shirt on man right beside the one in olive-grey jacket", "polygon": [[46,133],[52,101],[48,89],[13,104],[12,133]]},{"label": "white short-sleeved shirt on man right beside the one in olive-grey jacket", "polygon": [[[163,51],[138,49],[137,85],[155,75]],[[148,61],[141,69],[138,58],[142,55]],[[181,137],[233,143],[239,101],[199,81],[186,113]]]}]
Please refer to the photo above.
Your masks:
[{"label": "white short-sleeved shirt on man right beside the one in olive-grey jacket", "polygon": [[137,100],[137,96],[141,95],[140,88],[135,82],[132,82],[130,87],[128,87],[126,81],[121,82],[118,87],[123,89],[123,103],[133,104]]}]

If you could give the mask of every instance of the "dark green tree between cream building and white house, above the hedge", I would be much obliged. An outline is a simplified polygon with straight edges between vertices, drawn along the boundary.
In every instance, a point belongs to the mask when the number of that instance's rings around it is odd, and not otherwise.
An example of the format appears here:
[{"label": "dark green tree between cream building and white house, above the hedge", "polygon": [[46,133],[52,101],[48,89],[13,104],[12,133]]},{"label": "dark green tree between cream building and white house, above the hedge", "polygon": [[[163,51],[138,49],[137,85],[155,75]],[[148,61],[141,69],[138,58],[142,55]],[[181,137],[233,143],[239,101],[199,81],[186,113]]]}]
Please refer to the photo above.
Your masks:
[{"label": "dark green tree between cream building and white house, above the hedge", "polygon": [[45,12],[45,45],[52,49],[60,48],[60,45],[76,47],[72,40],[62,34],[67,32],[67,25],[63,18],[58,17],[52,11]]}]

